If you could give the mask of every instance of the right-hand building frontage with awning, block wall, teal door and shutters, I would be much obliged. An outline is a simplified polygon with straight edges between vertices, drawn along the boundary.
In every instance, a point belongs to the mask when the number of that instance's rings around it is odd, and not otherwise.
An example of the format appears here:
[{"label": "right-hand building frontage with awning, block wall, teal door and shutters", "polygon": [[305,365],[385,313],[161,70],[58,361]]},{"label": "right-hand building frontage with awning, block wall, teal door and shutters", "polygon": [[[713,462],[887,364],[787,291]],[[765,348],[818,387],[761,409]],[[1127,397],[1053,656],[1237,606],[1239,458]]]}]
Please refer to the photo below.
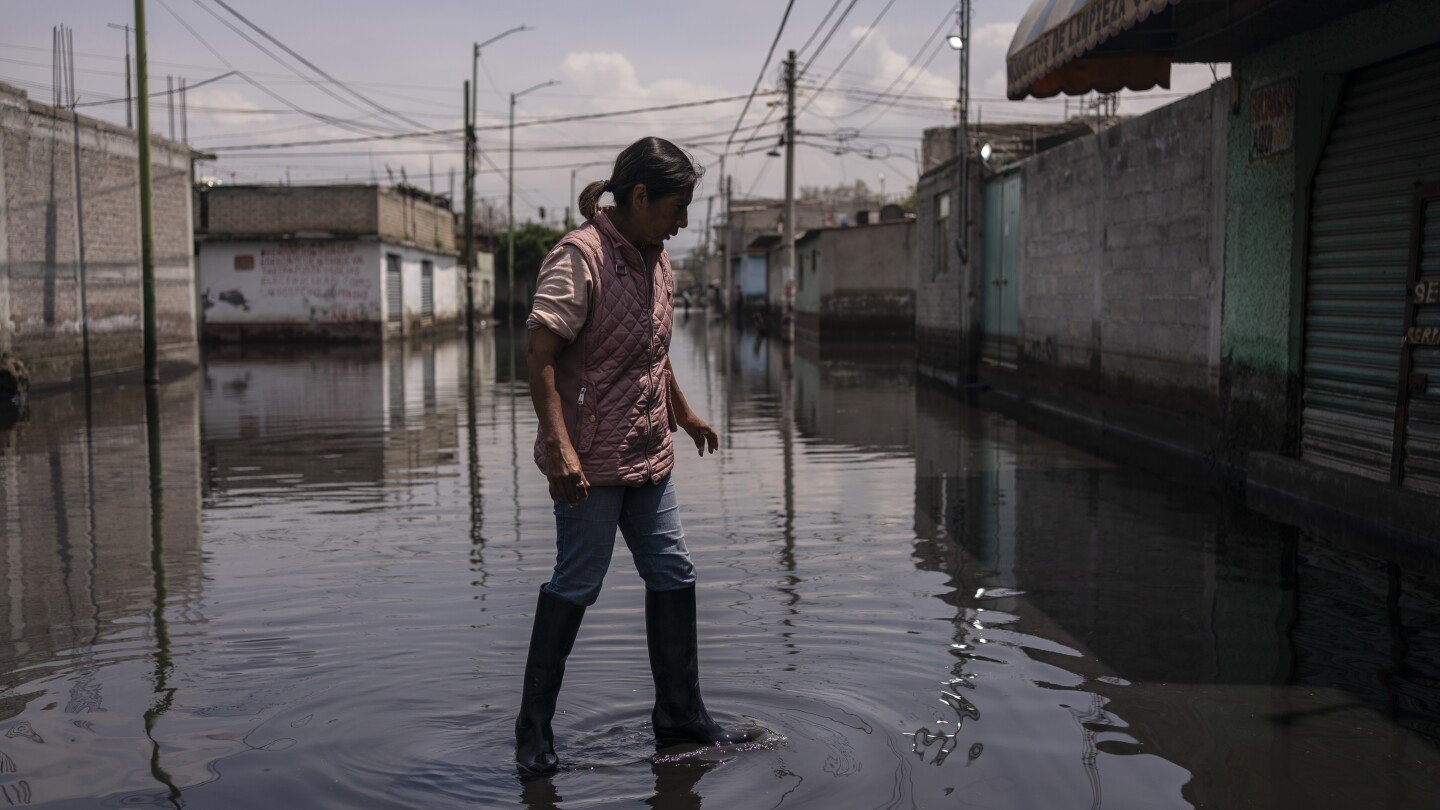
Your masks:
[{"label": "right-hand building frontage with awning, block wall, teal door and shutters", "polygon": [[[937,353],[952,379],[1198,458],[1251,497],[1433,540],[1440,6],[1104,6],[1017,35],[1011,97],[1153,86],[1172,61],[1231,76],[981,167],[979,248],[940,311],[924,285],[949,268],[917,251],[922,357],[927,334],[958,336],[956,360]],[[1086,20],[1102,30],[1067,36]],[[1106,62],[1142,45],[1143,69]],[[922,229],[955,222],[946,176],[922,177]]]}]

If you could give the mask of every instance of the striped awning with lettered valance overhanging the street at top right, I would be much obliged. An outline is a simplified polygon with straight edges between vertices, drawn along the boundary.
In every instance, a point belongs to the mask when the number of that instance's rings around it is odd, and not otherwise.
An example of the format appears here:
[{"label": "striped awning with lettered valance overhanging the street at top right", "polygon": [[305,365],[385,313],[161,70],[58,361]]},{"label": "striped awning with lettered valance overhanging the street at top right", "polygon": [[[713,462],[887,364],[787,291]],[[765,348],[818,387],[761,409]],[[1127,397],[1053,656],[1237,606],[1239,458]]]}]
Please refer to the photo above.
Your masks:
[{"label": "striped awning with lettered valance overhanging the street at top right", "polygon": [[1034,0],[1005,56],[1009,98],[1169,88],[1169,49],[1125,35],[1179,1]]}]

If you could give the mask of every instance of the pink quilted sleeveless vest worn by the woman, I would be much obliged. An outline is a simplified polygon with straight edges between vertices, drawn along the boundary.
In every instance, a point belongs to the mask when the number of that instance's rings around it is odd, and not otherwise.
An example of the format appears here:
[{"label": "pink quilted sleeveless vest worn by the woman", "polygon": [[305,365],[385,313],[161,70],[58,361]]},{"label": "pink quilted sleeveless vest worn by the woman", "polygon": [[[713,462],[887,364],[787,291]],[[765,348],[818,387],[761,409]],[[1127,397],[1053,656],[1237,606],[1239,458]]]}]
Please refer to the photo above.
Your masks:
[{"label": "pink quilted sleeveless vest worn by the woman", "polygon": [[[556,360],[570,444],[593,487],[658,481],[675,464],[665,370],[675,294],[670,255],[642,255],[603,210],[554,249],[562,245],[579,248],[590,271],[585,326]],[[547,473],[540,435],[536,464]]]}]

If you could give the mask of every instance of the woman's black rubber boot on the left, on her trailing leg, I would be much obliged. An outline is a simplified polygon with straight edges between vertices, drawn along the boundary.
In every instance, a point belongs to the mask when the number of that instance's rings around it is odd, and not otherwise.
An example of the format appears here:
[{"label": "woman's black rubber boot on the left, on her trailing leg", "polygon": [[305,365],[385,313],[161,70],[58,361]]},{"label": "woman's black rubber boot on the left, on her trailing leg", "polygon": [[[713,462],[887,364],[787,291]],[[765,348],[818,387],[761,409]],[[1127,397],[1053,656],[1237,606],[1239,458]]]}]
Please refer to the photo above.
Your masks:
[{"label": "woman's black rubber boot on the left, on her trailing leg", "polygon": [[575,646],[585,608],[540,591],[536,623],[530,630],[530,654],[526,659],[526,685],[516,718],[516,762],[520,774],[536,777],[553,774],[560,765],[554,755],[554,699],[564,680],[564,659]]}]

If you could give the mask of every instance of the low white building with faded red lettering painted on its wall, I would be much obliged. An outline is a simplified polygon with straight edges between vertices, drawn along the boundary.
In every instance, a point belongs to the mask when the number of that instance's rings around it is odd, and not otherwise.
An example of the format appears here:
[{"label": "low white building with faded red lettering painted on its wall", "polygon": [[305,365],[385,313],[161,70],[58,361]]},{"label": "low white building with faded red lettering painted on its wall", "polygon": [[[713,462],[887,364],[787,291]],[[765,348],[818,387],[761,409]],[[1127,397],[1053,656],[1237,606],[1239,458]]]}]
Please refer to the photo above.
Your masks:
[{"label": "low white building with faded red lettering painted on its wall", "polygon": [[464,321],[444,197],[380,186],[215,186],[197,197],[207,339],[383,340]]}]

